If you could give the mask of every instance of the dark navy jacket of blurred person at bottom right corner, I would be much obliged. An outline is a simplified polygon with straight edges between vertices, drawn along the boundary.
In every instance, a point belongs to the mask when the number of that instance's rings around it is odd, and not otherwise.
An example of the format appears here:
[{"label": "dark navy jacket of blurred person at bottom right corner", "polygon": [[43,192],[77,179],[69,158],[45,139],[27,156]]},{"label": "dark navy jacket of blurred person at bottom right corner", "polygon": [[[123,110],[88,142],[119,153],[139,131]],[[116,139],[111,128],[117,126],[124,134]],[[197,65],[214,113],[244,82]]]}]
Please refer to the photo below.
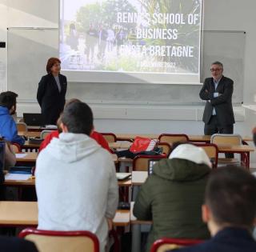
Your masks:
[{"label": "dark navy jacket of blurred person at bottom right corner", "polygon": [[254,252],[256,242],[248,230],[228,227],[219,231],[214,238],[196,246],[169,252]]}]

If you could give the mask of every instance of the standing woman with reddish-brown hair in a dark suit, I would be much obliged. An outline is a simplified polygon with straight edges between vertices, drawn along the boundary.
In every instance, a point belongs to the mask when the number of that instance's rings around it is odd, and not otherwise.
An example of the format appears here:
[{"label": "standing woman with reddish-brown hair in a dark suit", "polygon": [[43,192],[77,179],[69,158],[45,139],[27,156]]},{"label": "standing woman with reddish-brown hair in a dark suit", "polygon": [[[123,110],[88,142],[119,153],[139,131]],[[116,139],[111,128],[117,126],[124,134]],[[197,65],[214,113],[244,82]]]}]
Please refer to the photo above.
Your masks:
[{"label": "standing woman with reddish-brown hair in a dark suit", "polygon": [[49,58],[46,66],[48,74],[42,76],[38,84],[38,103],[41,106],[43,123],[56,125],[65,105],[66,76],[60,74],[61,61]]}]

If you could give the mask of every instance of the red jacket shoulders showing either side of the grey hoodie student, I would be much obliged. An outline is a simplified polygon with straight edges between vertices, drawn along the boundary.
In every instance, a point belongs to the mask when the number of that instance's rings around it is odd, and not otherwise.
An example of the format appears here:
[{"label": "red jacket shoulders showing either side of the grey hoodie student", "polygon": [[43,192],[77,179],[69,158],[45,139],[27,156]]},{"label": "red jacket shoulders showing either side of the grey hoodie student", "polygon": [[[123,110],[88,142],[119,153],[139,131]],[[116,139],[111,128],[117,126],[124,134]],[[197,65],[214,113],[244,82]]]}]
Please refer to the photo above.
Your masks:
[{"label": "red jacket shoulders showing either side of the grey hoodie student", "polygon": [[[46,148],[46,146],[50,143],[52,138],[58,138],[58,130],[52,131],[50,134],[46,135],[46,138],[43,140],[39,147],[39,152]],[[108,150],[111,153],[110,146],[106,142],[105,138],[103,138],[102,134],[98,133],[97,131],[93,131],[92,134],[90,134],[90,138],[93,138],[102,148]]]}]

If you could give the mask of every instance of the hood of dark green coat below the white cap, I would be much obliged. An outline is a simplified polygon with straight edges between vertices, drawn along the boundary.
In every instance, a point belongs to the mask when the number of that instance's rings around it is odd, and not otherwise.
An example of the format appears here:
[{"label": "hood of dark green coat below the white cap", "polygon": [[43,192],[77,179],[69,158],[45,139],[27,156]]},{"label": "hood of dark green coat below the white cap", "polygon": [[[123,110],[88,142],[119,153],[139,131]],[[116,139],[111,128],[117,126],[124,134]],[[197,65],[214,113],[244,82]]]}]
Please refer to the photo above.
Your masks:
[{"label": "hood of dark green coat below the white cap", "polygon": [[210,173],[210,167],[186,159],[162,159],[153,167],[153,174],[172,181],[198,180]]}]

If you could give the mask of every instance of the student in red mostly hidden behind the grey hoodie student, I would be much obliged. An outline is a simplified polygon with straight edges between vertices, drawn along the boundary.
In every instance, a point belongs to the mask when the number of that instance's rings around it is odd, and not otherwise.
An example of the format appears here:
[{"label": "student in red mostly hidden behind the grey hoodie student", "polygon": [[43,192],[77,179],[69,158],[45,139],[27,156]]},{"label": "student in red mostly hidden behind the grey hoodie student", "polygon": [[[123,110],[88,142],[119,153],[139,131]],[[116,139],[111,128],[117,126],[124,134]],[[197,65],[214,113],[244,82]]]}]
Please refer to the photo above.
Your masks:
[{"label": "student in red mostly hidden behind the grey hoodie student", "polygon": [[[68,102],[66,102],[66,105],[68,105],[72,102],[81,102],[81,101],[76,98],[72,98]],[[57,121],[58,130],[53,130],[50,134],[46,135],[46,138],[42,141],[42,143],[39,147],[39,152],[41,150],[43,150],[44,148],[46,148],[46,146],[50,143],[52,138],[58,138],[58,134],[62,133],[62,129],[59,126],[60,123],[61,123],[60,118],[58,118],[58,121]],[[102,146],[102,148],[110,151],[110,153],[111,153],[110,146],[109,146],[108,142],[106,142],[106,139],[103,138],[102,134],[93,130],[92,133],[90,134],[90,138],[93,138],[96,142],[98,142],[98,144],[100,146]]]}]

